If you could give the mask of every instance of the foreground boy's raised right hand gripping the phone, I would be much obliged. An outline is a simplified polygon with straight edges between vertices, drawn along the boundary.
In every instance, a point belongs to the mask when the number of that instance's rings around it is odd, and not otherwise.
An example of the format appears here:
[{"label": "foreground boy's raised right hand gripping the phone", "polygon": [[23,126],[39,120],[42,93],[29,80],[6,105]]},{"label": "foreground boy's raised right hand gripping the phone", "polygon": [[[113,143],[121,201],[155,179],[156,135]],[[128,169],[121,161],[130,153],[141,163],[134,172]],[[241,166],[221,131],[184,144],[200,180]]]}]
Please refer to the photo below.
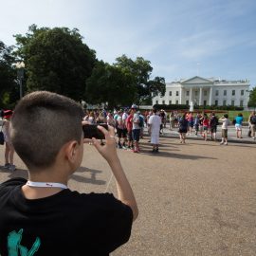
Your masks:
[{"label": "foreground boy's raised right hand gripping the phone", "polygon": [[108,131],[101,125],[98,125],[97,128],[104,134],[106,143],[101,146],[100,141],[93,137],[92,141],[94,146],[109,163],[117,160],[119,156],[116,148],[115,129],[110,125],[108,125]]}]

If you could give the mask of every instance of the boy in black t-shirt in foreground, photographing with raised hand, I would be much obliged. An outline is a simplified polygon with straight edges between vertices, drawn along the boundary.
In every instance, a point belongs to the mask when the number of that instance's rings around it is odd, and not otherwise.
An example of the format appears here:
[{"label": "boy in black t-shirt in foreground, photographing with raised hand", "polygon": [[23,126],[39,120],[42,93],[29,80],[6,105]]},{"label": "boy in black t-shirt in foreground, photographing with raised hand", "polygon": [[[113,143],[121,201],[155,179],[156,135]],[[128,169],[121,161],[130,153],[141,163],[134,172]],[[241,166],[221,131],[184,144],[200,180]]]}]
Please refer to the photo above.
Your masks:
[{"label": "boy in black t-shirt in foreground, photographing with raised hand", "polygon": [[49,92],[25,96],[15,108],[10,137],[28,169],[28,181],[0,185],[0,255],[109,255],[126,243],[137,203],[116,151],[114,128],[93,138],[114,176],[110,193],[79,193],[67,181],[82,163],[82,108]]}]

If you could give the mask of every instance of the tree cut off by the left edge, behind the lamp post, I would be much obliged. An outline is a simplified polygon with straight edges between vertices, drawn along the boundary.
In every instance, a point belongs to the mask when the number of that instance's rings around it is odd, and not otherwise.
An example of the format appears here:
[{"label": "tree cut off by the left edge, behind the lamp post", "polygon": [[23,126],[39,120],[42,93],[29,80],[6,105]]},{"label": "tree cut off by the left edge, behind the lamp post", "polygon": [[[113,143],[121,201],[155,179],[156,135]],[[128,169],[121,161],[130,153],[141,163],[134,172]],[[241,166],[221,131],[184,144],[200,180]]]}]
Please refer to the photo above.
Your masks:
[{"label": "tree cut off by the left edge, behind the lamp post", "polygon": [[15,58],[11,54],[12,47],[0,41],[0,107],[13,108],[14,102],[19,99],[19,88],[15,69],[12,64]]}]

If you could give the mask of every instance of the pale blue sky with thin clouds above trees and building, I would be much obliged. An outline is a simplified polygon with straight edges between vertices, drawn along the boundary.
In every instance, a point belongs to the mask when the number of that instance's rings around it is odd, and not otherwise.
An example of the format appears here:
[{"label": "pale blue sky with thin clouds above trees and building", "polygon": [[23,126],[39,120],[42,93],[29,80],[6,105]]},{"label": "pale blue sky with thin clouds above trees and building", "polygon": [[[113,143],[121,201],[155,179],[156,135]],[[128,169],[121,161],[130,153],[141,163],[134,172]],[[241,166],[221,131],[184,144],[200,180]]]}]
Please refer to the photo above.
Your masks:
[{"label": "pale blue sky with thin clouds above trees and building", "polygon": [[166,82],[204,78],[256,85],[255,0],[9,0],[1,1],[0,40],[28,26],[77,27],[97,57],[122,54],[151,62]]}]

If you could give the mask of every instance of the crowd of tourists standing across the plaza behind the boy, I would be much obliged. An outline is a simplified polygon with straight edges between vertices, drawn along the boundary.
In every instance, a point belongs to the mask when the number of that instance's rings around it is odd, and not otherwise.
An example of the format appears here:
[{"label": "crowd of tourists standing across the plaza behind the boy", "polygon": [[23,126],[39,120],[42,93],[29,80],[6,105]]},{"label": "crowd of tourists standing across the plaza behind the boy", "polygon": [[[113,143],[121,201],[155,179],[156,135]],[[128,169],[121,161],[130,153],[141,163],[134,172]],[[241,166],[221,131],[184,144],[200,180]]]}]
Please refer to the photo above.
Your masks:
[{"label": "crowd of tourists standing across the plaza behind the boy", "polygon": [[[2,126],[1,136],[2,144],[5,141],[5,169],[14,171],[16,169],[13,164],[14,149],[9,139],[9,120],[12,116],[11,110],[1,111]],[[177,130],[180,143],[186,143],[186,137],[196,136],[202,137],[205,141],[216,141],[217,126],[221,123],[221,145],[228,145],[228,130],[229,125],[233,124],[236,129],[236,137],[242,137],[243,118],[242,113],[238,114],[232,121],[229,120],[228,114],[218,118],[214,112],[207,113],[192,113],[192,112],[177,112],[173,111],[169,114],[163,109],[145,111],[141,113],[136,104],[130,108],[123,108],[114,111],[102,110],[86,110],[83,120],[91,124],[107,123],[115,128],[117,137],[117,147],[132,151],[140,152],[139,139],[144,136],[144,129],[147,128],[150,139],[148,143],[152,145],[152,153],[159,152],[159,137],[164,133],[164,128]],[[247,120],[248,137],[255,140],[256,130],[256,115],[251,112]],[[169,127],[167,127],[169,125]],[[0,137],[1,138],[1,137]],[[1,139],[0,139],[1,140]],[[101,140],[101,145],[104,145]]]}]

